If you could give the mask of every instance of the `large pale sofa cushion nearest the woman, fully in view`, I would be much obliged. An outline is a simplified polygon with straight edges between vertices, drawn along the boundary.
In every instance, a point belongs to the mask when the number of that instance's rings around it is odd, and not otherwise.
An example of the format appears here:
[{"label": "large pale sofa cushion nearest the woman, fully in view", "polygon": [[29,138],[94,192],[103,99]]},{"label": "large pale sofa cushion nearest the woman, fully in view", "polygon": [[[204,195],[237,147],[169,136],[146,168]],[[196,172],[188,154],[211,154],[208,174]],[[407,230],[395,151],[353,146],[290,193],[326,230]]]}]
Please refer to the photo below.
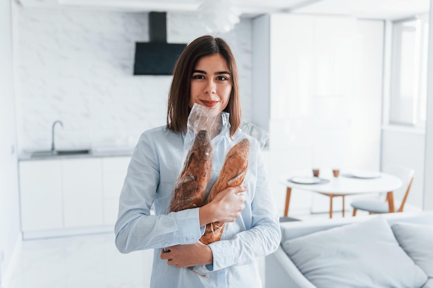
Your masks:
[{"label": "large pale sofa cushion nearest the woman, fully in view", "polygon": [[282,246],[320,288],[419,288],[427,281],[382,216],[286,240]]}]

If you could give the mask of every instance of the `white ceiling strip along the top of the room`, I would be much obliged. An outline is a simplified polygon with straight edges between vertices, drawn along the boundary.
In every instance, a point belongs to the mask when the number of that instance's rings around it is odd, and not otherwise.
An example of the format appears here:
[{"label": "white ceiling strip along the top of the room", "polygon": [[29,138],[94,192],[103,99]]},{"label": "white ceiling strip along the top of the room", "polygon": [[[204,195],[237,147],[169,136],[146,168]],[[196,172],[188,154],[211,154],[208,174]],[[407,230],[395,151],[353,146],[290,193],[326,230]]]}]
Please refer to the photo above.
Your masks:
[{"label": "white ceiling strip along the top of the room", "polygon": [[[82,7],[127,11],[195,12],[205,0],[17,0],[28,7]],[[242,17],[270,12],[401,19],[428,12],[430,0],[208,0],[231,1]],[[225,5],[223,3],[223,5]]]}]

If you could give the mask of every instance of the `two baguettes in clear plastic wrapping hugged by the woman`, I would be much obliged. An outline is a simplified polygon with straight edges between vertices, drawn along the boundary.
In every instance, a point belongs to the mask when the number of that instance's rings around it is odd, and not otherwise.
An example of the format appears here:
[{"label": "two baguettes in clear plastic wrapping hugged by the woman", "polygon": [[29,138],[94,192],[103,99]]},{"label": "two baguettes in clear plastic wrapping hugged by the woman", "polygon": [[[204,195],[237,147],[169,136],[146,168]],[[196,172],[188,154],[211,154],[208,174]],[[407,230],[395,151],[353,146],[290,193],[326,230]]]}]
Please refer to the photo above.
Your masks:
[{"label": "two baguettes in clear plastic wrapping hugged by the woman", "polygon": [[[194,104],[187,121],[185,160],[174,185],[169,212],[201,207],[224,189],[244,182],[248,175],[250,141],[258,140],[256,146],[263,148],[267,134],[253,124],[244,124],[243,132],[237,131],[232,138],[218,135],[212,140],[212,131],[221,128],[230,129],[228,113],[212,115],[209,108]],[[201,242],[210,244],[221,240],[224,226],[222,222],[207,224]]]}]

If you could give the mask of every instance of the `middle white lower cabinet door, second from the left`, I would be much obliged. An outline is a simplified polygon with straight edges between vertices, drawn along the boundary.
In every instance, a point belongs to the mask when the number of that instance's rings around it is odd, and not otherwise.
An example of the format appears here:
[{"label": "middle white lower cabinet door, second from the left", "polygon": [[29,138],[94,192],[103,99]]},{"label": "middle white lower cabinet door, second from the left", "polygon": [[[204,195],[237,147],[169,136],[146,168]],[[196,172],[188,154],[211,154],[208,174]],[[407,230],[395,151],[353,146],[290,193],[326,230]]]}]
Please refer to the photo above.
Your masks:
[{"label": "middle white lower cabinet door, second from the left", "polygon": [[103,224],[101,161],[62,160],[64,228]]}]

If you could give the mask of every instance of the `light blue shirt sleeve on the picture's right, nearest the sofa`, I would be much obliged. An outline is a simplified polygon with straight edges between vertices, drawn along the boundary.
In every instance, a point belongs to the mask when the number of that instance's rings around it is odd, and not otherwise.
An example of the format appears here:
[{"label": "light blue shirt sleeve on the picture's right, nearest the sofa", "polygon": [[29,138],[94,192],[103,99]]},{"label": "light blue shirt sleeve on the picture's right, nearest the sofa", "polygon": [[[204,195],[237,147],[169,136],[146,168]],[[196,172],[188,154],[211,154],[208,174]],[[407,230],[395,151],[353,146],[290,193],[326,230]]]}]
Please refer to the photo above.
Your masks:
[{"label": "light blue shirt sleeve on the picture's right, nearest the sofa", "polygon": [[275,207],[264,160],[257,161],[255,197],[252,200],[252,227],[237,233],[230,240],[209,244],[212,249],[212,265],[195,267],[199,273],[218,271],[232,265],[245,265],[261,256],[273,253],[281,241],[279,215]]}]

